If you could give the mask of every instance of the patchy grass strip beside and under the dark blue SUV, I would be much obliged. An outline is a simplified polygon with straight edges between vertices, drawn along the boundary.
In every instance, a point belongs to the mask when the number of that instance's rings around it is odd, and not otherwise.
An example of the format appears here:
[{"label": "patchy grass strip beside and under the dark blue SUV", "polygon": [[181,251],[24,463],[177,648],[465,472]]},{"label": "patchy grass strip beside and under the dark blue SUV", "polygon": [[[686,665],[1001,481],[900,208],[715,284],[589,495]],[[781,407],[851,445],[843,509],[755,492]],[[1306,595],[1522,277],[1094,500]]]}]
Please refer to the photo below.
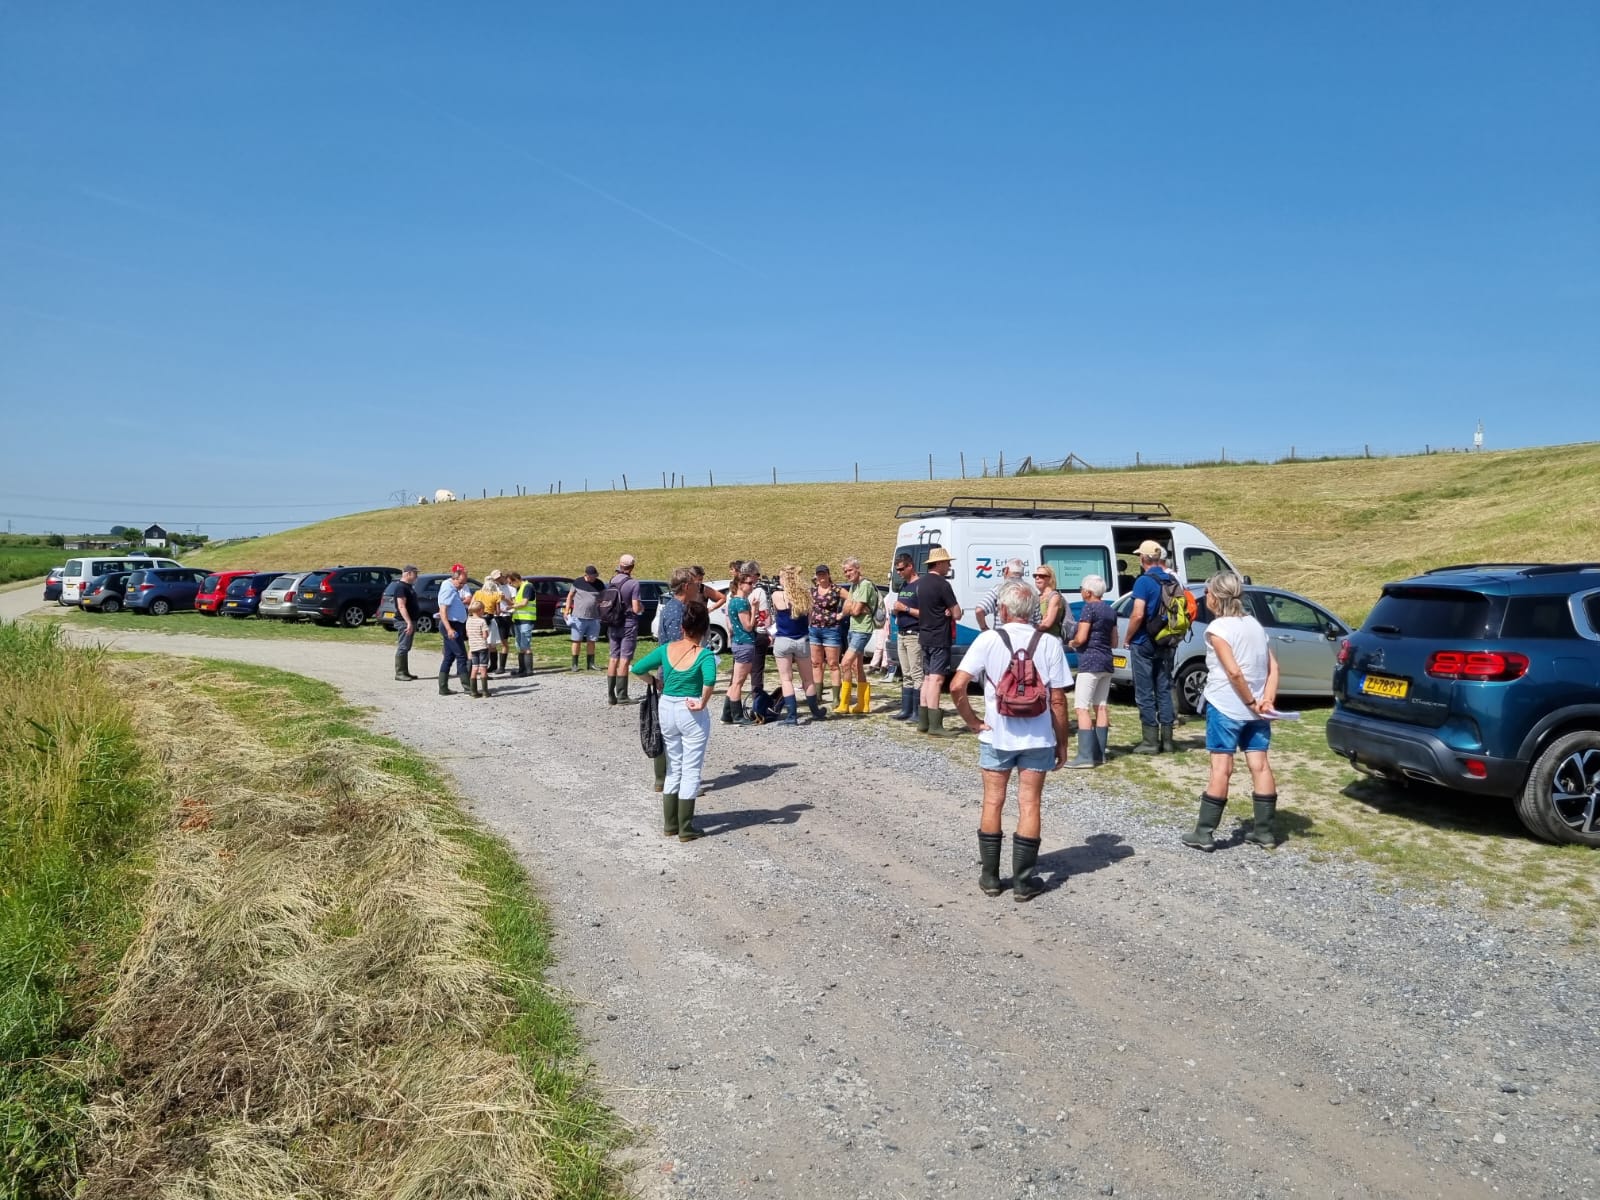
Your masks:
[{"label": "patchy grass strip beside and under the dark blue SUV", "polygon": [[[949,698],[944,707],[946,728],[954,728]],[[981,699],[976,707],[982,710]],[[1294,706],[1285,702],[1283,707]],[[1517,821],[1510,802],[1438,787],[1397,787],[1355,773],[1328,749],[1330,712],[1326,706],[1306,706],[1301,720],[1282,722],[1272,730],[1283,848],[1304,853],[1314,862],[1363,862],[1374,869],[1376,886],[1406,888],[1438,902],[1466,890],[1491,909],[1515,909],[1552,920],[1568,930],[1574,942],[1594,942],[1600,930],[1595,851],[1536,840]],[[894,736],[917,739],[915,733]],[[1074,782],[1091,787],[1114,784],[1146,816],[1170,822],[1176,845],[1181,834],[1194,829],[1210,755],[1200,718],[1190,717],[1187,725],[1179,725],[1174,739],[1181,754],[1134,755],[1139,712],[1131,702],[1114,701],[1110,762],[1070,774]],[[978,739],[963,736],[947,746],[957,762],[973,768],[976,787]],[[1061,782],[1061,774],[1046,781],[1046,805],[1062,803]],[[1218,842],[1238,842],[1250,819],[1250,773],[1240,757]],[[1219,853],[1262,851],[1240,842]]]}]

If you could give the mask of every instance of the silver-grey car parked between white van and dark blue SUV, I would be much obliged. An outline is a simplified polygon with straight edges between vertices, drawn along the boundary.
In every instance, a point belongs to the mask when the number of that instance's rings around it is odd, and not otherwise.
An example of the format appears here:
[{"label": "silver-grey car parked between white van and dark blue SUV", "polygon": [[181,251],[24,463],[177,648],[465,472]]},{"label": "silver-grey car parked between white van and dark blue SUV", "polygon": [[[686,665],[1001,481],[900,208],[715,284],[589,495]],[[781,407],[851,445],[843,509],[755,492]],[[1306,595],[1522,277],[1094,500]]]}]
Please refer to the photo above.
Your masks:
[{"label": "silver-grey car parked between white van and dark blue SUV", "polygon": [[[1205,594],[1197,592],[1200,611],[1189,635],[1178,643],[1173,659],[1173,691],[1184,712],[1198,712],[1205,694],[1205,627],[1210,613]],[[1128,613],[1133,597],[1117,602],[1118,642],[1128,634]],[[1245,587],[1245,611],[1254,616],[1267,630],[1267,642],[1278,658],[1278,694],[1330,699],[1333,696],[1333,664],[1339,642],[1350,627],[1322,605],[1278,587]],[[1128,669],[1128,650],[1118,646],[1112,654],[1112,685],[1133,688],[1133,672]]]}]

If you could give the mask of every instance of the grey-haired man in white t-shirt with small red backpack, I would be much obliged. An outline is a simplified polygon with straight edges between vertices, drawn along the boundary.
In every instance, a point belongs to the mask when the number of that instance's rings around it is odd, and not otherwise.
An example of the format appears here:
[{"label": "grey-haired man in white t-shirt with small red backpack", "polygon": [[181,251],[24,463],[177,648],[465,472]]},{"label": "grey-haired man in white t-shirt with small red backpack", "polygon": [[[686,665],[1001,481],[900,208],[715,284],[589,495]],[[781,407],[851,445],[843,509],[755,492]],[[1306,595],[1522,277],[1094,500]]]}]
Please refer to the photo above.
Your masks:
[{"label": "grey-haired man in white t-shirt with small red backpack", "polygon": [[[995,597],[998,622],[978,635],[966,651],[962,666],[950,680],[950,698],[966,728],[978,734],[978,766],[984,781],[984,811],[978,821],[978,886],[986,896],[998,896],[1000,850],[1005,834],[1000,830],[1000,810],[1011,784],[1011,771],[1018,771],[1018,819],[1011,837],[1011,899],[1034,899],[1043,886],[1034,878],[1038,862],[1040,797],[1045,792],[1045,773],[1053,771],[1067,757],[1067,690],[1072,672],[1067,669],[1061,640],[1040,635],[1032,624],[1038,595],[1021,579],[1000,586]],[[1002,637],[1003,632],[1003,637]],[[1010,646],[1006,646],[1010,642]],[[995,688],[1016,651],[1032,645],[1032,662],[1045,686],[1045,710],[1037,717],[1008,717],[995,702]],[[973,680],[984,685],[984,720],[978,720],[966,694]]]}]

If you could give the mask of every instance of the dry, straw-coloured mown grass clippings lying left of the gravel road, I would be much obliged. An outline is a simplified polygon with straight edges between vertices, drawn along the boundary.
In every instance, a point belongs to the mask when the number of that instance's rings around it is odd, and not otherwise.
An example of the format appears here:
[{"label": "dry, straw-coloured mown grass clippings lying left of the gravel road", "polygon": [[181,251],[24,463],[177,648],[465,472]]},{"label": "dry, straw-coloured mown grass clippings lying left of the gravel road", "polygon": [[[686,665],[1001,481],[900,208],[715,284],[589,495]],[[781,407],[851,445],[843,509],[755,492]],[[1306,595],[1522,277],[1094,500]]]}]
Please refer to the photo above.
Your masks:
[{"label": "dry, straw-coloured mown grass clippings lying left of the gravel road", "polygon": [[197,688],[226,677],[117,670],[182,803],[98,1027],[80,1195],[552,1195],[550,1106],[485,1048],[507,1002],[434,798],[379,747],[269,747]]}]

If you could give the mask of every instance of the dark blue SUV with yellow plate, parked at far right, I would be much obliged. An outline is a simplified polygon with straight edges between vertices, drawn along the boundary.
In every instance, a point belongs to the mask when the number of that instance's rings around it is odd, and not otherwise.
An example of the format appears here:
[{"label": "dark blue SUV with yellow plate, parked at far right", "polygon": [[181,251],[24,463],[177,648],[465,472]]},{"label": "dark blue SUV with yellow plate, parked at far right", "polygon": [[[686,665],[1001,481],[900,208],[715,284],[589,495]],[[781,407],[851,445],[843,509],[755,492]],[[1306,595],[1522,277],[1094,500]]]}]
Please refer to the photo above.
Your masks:
[{"label": "dark blue SUV with yellow plate, parked at far right", "polygon": [[1387,584],[1333,696],[1328,746],[1357,770],[1514,798],[1534,835],[1600,846],[1600,563]]}]

